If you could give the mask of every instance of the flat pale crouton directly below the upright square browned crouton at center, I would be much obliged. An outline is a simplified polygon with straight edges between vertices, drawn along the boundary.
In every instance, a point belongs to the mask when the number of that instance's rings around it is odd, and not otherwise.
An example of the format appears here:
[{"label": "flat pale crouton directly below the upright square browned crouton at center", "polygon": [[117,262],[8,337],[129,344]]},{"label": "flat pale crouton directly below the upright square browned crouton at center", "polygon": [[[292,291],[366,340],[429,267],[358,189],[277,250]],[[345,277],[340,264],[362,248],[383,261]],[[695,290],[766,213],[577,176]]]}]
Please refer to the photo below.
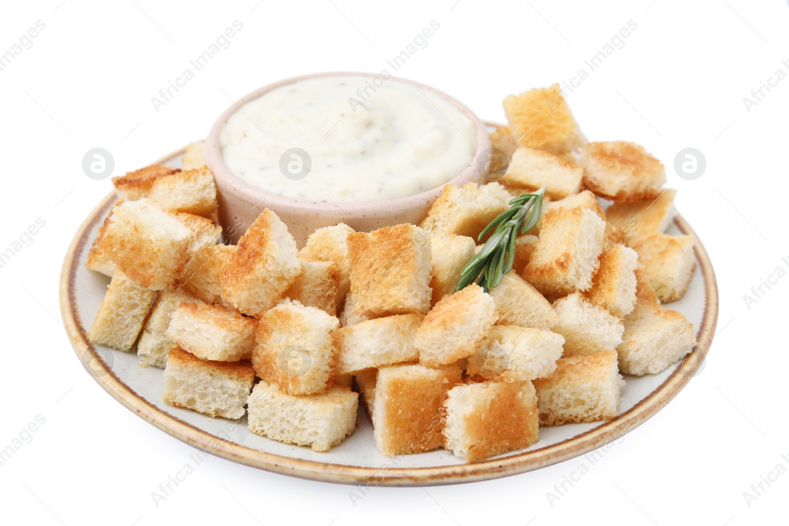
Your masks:
[{"label": "flat pale crouton directly below the upright square browned crouton at center", "polygon": [[423,319],[421,314],[400,314],[335,330],[340,374],[419,360],[413,337]]}]

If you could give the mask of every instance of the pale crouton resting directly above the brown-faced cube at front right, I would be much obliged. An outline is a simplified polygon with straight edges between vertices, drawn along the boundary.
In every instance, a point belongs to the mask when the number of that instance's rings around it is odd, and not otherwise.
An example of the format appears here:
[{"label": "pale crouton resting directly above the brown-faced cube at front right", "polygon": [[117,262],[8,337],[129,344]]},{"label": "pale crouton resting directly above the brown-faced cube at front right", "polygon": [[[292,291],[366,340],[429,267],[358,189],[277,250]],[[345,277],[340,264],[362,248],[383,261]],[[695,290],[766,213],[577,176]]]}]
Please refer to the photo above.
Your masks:
[{"label": "pale crouton resting directly above the brown-faced cube at front right", "polygon": [[563,344],[563,336],[550,330],[496,325],[469,356],[466,373],[496,382],[542,378],[556,368]]}]

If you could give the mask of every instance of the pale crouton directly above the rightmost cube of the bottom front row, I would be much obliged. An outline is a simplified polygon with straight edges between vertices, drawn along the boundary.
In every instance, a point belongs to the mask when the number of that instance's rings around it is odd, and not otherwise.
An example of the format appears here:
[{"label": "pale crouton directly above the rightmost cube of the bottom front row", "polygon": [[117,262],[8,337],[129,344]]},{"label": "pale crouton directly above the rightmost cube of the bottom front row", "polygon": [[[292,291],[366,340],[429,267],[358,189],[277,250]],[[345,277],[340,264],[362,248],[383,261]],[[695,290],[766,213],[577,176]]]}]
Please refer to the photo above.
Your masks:
[{"label": "pale crouton directly above the rightmost cube of the bottom front row", "polygon": [[553,308],[559,323],[552,330],[564,337],[563,356],[610,351],[622,343],[622,320],[591,304],[581,293],[555,300]]}]

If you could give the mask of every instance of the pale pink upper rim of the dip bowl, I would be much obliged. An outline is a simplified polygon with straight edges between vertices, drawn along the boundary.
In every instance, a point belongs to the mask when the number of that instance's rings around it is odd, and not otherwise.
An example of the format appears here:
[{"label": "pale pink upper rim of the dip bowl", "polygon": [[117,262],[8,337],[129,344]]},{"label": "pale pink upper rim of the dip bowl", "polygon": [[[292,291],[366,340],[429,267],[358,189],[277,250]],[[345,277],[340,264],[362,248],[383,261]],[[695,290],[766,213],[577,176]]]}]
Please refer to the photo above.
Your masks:
[{"label": "pale pink upper rim of the dip bowl", "polygon": [[347,201],[335,201],[327,194],[329,200],[327,201],[312,201],[312,200],[303,200],[303,199],[295,199],[291,197],[281,196],[279,194],[272,193],[271,190],[266,190],[265,188],[260,188],[259,186],[252,185],[247,181],[238,177],[235,173],[230,171],[230,169],[226,166],[224,159],[222,159],[222,147],[219,144],[219,133],[222,131],[222,127],[228,121],[231,115],[236,114],[241,107],[244,106],[246,103],[251,102],[252,100],[259,99],[261,96],[265,95],[268,91],[271,91],[275,88],[280,88],[282,86],[286,86],[287,84],[294,84],[301,80],[309,80],[312,78],[318,78],[323,76],[362,76],[362,77],[369,77],[369,78],[377,78],[383,76],[382,73],[367,73],[367,72],[349,72],[349,71],[331,71],[331,72],[323,72],[323,73],[308,73],[305,75],[299,76],[291,76],[286,79],[277,80],[272,82],[271,84],[266,84],[256,90],[250,91],[246,95],[242,96],[241,99],[237,99],[232,103],[230,106],[226,108],[219,115],[219,118],[216,119],[213,125],[211,125],[211,129],[208,132],[208,136],[205,138],[204,142],[204,159],[208,168],[214,173],[214,177],[217,180],[217,186],[222,187],[225,191],[233,192],[236,196],[241,196],[245,198],[246,201],[249,203],[255,203],[254,206],[259,205],[260,203],[267,203],[270,204],[271,207],[276,207],[282,209],[284,207],[289,207],[292,211],[302,211],[302,210],[310,210],[310,211],[336,211],[338,207],[342,209],[346,215],[350,215],[351,212],[361,213],[361,214],[369,214],[374,215],[376,211],[380,211],[382,207],[386,207],[388,210],[405,210],[410,207],[413,207],[415,203],[424,203],[425,200],[436,200],[438,196],[441,195],[443,192],[443,188],[446,185],[458,185],[464,184],[469,181],[478,180],[480,177],[485,177],[485,173],[480,173],[477,170],[477,159],[479,156],[491,146],[490,137],[488,136],[488,129],[485,125],[484,121],[474,114],[474,112],[465,104],[461,103],[458,99],[455,99],[451,95],[447,95],[443,91],[440,91],[436,88],[432,88],[432,86],[428,86],[427,84],[422,84],[421,82],[417,82],[416,80],[410,80],[406,78],[402,78],[399,76],[392,76],[390,75],[389,78],[386,80],[398,80],[400,82],[404,82],[406,84],[413,84],[418,89],[424,89],[427,91],[431,91],[432,93],[439,95],[443,99],[447,100],[448,103],[451,103],[454,107],[458,108],[462,114],[465,114],[467,118],[469,118],[475,129],[475,143],[477,145],[476,151],[474,151],[469,164],[460,171],[457,175],[452,177],[449,181],[442,183],[441,185],[436,186],[435,188],[430,188],[425,190],[424,192],[419,192],[417,194],[413,194],[413,196],[403,196],[398,197],[391,200],[380,200],[380,201],[361,201],[361,202],[347,202]]}]

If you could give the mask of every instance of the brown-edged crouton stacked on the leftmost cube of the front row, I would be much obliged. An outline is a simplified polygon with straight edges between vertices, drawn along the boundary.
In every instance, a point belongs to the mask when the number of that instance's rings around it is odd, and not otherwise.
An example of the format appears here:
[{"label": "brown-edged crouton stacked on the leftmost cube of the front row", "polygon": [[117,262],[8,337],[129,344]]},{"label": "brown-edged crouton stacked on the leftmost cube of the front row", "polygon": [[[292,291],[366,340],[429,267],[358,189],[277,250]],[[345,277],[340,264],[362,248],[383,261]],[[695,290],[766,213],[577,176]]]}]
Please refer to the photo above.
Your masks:
[{"label": "brown-edged crouton stacked on the leftmost cube of the front row", "polygon": [[167,338],[203,360],[237,362],[252,357],[257,320],[223,305],[184,302],[174,311]]}]

